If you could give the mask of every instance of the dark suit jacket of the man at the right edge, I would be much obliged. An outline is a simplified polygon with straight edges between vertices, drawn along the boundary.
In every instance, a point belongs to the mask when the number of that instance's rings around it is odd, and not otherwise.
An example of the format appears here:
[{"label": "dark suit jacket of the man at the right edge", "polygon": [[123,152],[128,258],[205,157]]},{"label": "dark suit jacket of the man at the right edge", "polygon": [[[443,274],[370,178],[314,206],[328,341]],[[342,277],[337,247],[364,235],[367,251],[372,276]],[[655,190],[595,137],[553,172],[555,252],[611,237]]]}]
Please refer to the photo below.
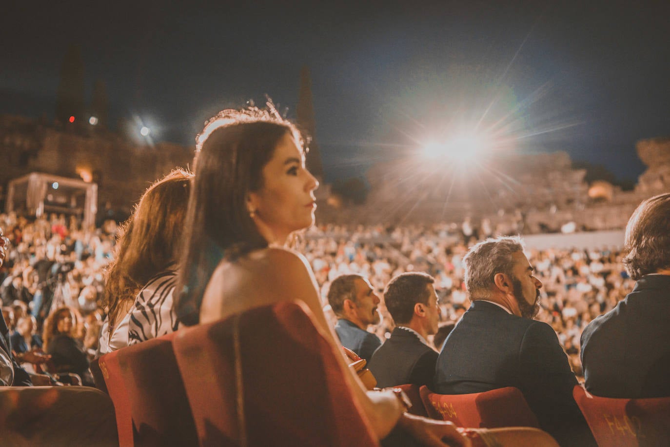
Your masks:
[{"label": "dark suit jacket of the man at the right edge", "polygon": [[646,275],[582,332],[586,389],[603,397],[670,396],[670,276]]}]

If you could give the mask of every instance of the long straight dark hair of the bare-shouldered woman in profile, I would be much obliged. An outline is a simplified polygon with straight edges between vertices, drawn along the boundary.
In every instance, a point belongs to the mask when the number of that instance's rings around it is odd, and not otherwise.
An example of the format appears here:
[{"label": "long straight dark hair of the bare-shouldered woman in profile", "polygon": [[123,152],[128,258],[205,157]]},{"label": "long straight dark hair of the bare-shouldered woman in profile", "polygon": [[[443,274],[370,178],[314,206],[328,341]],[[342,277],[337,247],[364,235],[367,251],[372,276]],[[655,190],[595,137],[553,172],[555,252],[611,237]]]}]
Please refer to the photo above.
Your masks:
[{"label": "long straight dark hair of the bare-shouldered woman in profile", "polygon": [[253,108],[222,111],[196,138],[195,180],[175,292],[182,323],[199,322],[202,296],[222,259],[267,247],[249,216],[247,194],[263,187],[263,167],[287,134],[304,147],[293,124]]}]

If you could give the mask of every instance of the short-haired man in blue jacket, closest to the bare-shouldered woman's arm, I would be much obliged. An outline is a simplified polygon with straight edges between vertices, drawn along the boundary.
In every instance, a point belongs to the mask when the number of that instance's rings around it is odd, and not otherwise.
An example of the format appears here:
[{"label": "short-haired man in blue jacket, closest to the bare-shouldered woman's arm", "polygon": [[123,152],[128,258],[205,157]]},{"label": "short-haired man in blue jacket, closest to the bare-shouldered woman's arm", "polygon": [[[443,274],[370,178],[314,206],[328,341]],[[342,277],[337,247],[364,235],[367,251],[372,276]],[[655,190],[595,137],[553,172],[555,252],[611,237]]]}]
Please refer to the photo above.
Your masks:
[{"label": "short-haired man in blue jacket, closest to the bare-shouldered woman's arm", "polygon": [[373,286],[360,275],[342,275],[330,283],[328,303],[338,317],[335,332],[345,348],[358,357],[370,361],[381,341],[367,331],[371,324],[379,324],[379,296]]}]

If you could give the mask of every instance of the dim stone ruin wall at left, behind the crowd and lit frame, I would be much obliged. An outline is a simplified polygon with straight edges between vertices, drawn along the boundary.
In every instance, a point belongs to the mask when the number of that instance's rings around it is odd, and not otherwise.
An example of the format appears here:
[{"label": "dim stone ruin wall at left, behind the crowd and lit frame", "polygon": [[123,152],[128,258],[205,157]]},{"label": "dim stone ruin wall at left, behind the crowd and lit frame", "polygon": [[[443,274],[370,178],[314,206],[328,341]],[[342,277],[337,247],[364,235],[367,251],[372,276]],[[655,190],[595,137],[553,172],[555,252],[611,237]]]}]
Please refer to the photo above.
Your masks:
[{"label": "dim stone ruin wall at left, behind the crowd and lit frame", "polygon": [[30,172],[89,178],[98,213],[127,214],[142,192],[173,168],[192,164],[194,148],[137,143],[89,125],[56,129],[40,120],[0,116],[0,186]]}]

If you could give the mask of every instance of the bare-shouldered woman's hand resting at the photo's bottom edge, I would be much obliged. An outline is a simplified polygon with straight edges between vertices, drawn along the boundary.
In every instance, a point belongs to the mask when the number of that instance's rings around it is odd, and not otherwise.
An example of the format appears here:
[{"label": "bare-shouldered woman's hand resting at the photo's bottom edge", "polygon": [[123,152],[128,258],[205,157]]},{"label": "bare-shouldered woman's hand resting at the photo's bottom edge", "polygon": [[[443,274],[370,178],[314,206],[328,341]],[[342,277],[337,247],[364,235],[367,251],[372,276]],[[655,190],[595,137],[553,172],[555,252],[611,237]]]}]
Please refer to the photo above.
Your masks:
[{"label": "bare-shouldered woman's hand resting at the photo's bottom edge", "polygon": [[470,439],[461,434],[453,422],[431,420],[404,413],[398,424],[424,446],[472,446]]}]

